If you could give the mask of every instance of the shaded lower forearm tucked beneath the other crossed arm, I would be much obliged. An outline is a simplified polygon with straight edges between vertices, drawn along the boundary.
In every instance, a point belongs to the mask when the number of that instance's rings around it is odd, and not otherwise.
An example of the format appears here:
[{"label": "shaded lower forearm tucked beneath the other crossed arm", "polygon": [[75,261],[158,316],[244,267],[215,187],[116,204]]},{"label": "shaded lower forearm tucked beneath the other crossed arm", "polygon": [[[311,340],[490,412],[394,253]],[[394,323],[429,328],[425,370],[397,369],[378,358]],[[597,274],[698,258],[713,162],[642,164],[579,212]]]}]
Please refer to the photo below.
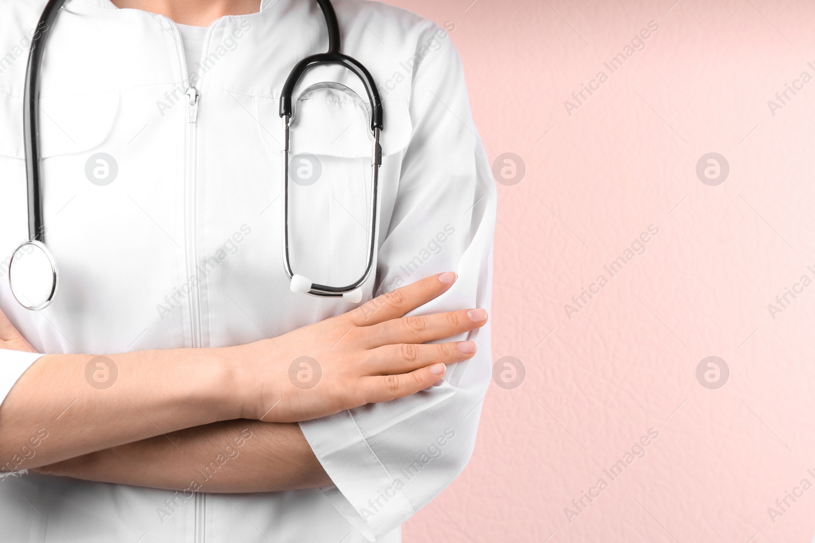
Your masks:
[{"label": "shaded lower forearm tucked beneath the other crossed arm", "polygon": [[174,431],[37,471],[186,493],[275,492],[332,484],[297,424],[250,420]]}]

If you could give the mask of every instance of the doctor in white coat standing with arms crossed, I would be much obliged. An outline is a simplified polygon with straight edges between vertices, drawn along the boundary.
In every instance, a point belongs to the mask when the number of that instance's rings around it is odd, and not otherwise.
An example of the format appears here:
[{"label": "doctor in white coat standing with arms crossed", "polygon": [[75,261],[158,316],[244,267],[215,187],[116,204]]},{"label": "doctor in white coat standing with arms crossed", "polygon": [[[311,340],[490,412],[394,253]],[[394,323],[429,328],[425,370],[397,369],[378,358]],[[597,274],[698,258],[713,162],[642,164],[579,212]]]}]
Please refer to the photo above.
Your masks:
[{"label": "doctor in white coat standing with arms crossed", "polygon": [[[325,50],[316,2],[68,2],[37,96],[59,292],[30,311],[7,265],[44,3],[0,4],[3,541],[399,541],[468,462],[491,374],[496,195],[447,32],[334,6],[385,119],[353,304],[283,271],[278,101]],[[302,86],[319,81],[362,94],[336,67]],[[364,108],[332,89],[297,107],[292,259],[344,284],[369,234]]]}]

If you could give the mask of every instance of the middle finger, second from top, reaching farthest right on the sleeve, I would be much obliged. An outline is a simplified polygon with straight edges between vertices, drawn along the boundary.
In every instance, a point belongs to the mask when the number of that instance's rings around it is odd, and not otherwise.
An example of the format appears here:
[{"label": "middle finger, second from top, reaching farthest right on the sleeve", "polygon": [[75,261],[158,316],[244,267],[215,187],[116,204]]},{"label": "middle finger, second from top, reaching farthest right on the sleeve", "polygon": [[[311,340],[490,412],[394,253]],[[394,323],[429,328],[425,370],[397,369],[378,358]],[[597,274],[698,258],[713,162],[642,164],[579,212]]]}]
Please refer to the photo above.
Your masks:
[{"label": "middle finger, second from top, reaching farthest right on the sleeve", "polygon": [[421,344],[449,338],[487,324],[486,309],[464,309],[432,315],[393,318],[360,331],[368,348],[389,344]]}]

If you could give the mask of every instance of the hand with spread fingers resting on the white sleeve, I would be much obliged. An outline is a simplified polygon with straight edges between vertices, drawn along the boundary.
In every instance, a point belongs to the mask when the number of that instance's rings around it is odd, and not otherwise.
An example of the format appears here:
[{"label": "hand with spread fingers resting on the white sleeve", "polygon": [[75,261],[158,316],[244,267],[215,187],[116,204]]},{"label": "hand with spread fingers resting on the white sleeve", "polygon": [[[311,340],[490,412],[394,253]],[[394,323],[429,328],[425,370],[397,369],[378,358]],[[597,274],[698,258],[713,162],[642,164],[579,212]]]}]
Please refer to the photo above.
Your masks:
[{"label": "hand with spread fingers resting on the white sleeve", "polygon": [[[379,296],[348,313],[274,339],[240,347],[245,418],[293,423],[343,409],[390,401],[443,378],[445,364],[473,357],[471,341],[425,342],[472,331],[487,322],[483,309],[404,317],[446,292],[456,274],[431,276]],[[271,379],[263,379],[270,375]]]}]

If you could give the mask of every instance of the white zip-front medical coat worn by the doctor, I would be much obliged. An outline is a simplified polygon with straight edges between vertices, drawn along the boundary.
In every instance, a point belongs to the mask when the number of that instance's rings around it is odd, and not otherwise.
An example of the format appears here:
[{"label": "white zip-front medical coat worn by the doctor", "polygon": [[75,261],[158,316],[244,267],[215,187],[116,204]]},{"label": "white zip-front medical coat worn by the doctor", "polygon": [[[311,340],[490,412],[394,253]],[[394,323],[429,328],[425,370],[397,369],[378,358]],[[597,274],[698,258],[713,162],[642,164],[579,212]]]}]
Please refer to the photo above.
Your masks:
[{"label": "white zip-front medical coat worn by the doctor", "polygon": [[[192,61],[167,18],[71,0],[51,29],[39,98],[59,291],[41,312],[21,309],[6,266],[27,236],[24,72],[43,6],[0,2],[0,307],[39,353],[245,344],[354,307],[293,294],[282,264],[280,89],[297,61],[326,49],[317,3],[264,0],[256,14],[223,17]],[[489,309],[496,192],[453,25],[376,2],[335,7],[343,51],[384,100],[380,233],[365,298],[453,270],[452,289],[416,313]],[[318,81],[365,98],[341,68],[310,72],[298,88]],[[185,101],[192,86],[197,111]],[[321,177],[291,183],[293,267],[339,285],[363,269],[372,140],[347,94],[306,98],[293,166]],[[472,453],[490,328],[455,339],[468,336],[478,354],[450,366],[442,386],[301,423],[336,486],[192,497],[21,473],[0,480],[2,541],[399,541],[399,525]],[[0,351],[0,400],[36,359]]]}]

